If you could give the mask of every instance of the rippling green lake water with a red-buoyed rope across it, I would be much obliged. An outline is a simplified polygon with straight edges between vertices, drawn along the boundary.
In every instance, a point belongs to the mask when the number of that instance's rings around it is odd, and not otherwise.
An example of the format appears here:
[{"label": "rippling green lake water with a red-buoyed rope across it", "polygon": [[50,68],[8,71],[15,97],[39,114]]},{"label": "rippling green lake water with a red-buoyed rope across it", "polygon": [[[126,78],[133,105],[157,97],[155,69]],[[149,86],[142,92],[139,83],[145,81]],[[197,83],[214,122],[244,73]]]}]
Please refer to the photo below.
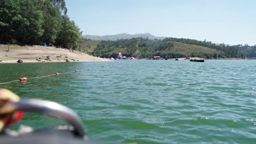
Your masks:
[{"label": "rippling green lake water with a red-buoyed rope across it", "polygon": [[[79,72],[0,87],[22,99],[39,98],[70,107],[92,140],[256,142],[254,60],[0,64],[0,82],[75,69]],[[19,124],[40,128],[62,122],[27,113]]]}]

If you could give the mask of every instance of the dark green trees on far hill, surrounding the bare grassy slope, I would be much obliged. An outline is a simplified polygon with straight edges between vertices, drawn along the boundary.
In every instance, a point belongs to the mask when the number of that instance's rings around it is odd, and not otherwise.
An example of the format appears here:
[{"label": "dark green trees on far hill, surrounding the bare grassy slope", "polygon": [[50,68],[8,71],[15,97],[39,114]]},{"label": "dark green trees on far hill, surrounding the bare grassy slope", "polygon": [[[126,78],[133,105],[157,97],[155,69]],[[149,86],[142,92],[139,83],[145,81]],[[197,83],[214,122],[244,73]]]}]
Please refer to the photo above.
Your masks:
[{"label": "dark green trees on far hill, surrounding the bare grassy slope", "polygon": [[[175,52],[172,50],[173,42],[205,46],[215,49],[216,52]],[[240,51],[235,46],[215,45],[210,41],[199,41],[193,39],[166,38],[145,39],[132,38],[120,39],[116,41],[102,40],[96,49],[90,54],[97,57],[115,57],[119,51],[129,57],[152,58],[160,56],[163,58],[181,58],[181,57],[201,57],[201,58],[245,58],[245,52]]]}]

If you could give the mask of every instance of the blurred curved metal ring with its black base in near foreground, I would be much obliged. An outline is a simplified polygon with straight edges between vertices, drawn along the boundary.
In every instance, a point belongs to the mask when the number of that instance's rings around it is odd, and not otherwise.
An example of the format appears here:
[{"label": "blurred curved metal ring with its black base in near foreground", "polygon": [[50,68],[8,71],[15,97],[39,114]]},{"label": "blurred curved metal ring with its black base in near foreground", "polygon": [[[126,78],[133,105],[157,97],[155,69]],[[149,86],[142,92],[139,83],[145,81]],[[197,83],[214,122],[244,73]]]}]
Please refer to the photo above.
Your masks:
[{"label": "blurred curved metal ring with its black base in near foreground", "polygon": [[37,112],[62,119],[70,126],[57,128],[44,128],[37,130],[24,130],[20,132],[4,129],[0,134],[0,144],[99,144],[94,141],[86,141],[83,124],[80,122],[77,113],[61,104],[38,99],[20,100],[14,103],[7,103],[1,107],[1,112],[13,113],[22,110],[24,112]]}]

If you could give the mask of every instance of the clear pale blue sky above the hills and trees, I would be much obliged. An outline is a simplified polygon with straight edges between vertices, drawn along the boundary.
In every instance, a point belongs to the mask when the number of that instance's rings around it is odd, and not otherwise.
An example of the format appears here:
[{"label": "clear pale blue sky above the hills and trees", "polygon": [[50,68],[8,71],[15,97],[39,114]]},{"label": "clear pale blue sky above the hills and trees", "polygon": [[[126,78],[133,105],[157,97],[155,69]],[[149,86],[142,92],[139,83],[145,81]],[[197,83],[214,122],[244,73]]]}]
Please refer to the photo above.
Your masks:
[{"label": "clear pale blue sky above the hills and trees", "polygon": [[256,45],[254,0],[66,0],[83,35],[150,33]]}]

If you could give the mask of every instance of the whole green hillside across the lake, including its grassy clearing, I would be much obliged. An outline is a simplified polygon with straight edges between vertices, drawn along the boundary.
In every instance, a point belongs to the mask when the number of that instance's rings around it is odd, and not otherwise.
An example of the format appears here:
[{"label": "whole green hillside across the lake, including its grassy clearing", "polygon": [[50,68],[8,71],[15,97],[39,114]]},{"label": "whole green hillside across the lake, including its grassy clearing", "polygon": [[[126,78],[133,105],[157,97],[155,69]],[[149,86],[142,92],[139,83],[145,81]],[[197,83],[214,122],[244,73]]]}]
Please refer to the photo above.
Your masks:
[{"label": "whole green hillside across the lake, including its grassy clearing", "polygon": [[80,51],[97,57],[115,57],[118,52],[129,57],[151,58],[161,56],[164,58],[179,57],[241,57],[245,54],[234,47],[217,46],[206,41],[191,39],[166,38],[163,40],[150,40],[144,38],[110,40],[86,40],[79,47]]}]

